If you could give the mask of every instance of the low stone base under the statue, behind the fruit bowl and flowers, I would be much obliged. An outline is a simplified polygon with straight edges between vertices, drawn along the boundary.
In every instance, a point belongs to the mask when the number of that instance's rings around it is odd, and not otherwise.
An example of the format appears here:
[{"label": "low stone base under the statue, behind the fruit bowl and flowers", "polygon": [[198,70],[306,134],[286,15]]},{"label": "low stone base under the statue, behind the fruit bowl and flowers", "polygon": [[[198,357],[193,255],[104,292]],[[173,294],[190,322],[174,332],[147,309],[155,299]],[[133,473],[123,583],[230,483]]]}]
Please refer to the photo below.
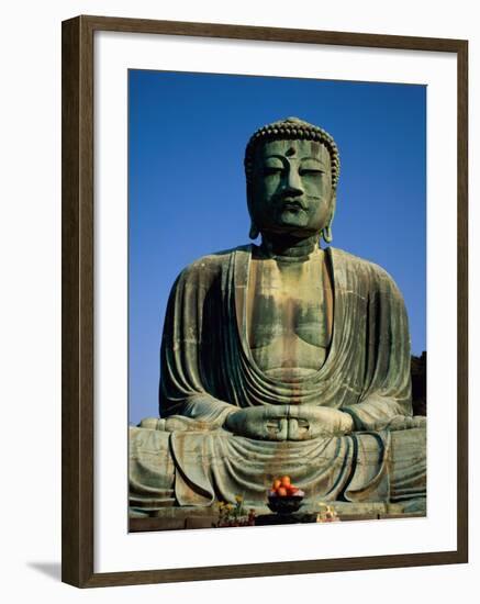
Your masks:
[{"label": "low stone base under the statue, behind the fruit bowl and flowers", "polygon": [[[338,518],[346,521],[376,521],[386,518],[423,517],[424,511],[405,511],[399,503],[347,503],[328,502],[335,507]],[[276,524],[313,523],[319,505],[305,504],[297,514],[280,516],[272,514],[267,506],[255,508],[257,526]],[[248,508],[246,510],[248,513]],[[164,507],[155,513],[131,510],[129,528],[132,533],[149,530],[180,530],[185,528],[215,528],[219,513],[215,505],[210,507]]]}]

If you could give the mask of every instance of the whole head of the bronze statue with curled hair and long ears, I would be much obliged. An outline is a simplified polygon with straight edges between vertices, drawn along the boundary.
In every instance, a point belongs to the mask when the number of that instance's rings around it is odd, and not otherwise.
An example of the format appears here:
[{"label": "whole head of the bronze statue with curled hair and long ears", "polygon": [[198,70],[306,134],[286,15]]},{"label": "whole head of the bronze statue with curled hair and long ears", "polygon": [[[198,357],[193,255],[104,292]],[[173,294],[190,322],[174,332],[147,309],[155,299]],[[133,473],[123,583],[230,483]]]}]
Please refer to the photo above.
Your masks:
[{"label": "whole head of the bronze statue with curled hair and long ears", "polygon": [[339,157],[332,136],[298,118],[254,133],[245,152],[250,237],[287,234],[332,239]]}]

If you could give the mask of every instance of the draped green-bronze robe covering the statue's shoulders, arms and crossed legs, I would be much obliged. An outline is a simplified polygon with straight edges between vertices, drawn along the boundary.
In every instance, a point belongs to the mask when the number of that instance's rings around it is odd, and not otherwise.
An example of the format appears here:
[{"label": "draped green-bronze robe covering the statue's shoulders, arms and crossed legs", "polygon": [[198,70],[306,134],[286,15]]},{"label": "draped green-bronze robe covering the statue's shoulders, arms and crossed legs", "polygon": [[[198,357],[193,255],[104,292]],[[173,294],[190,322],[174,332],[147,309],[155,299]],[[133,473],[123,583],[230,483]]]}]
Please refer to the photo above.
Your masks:
[{"label": "draped green-bronze robe covering the statue's shoulders, arms and crossed legs", "polygon": [[[333,276],[333,334],[321,368],[282,381],[256,365],[247,338],[253,246],[205,256],[175,282],[161,343],[160,418],[131,428],[131,505],[265,501],[289,474],[306,499],[401,502],[425,494],[425,429],[412,415],[410,335],[402,295],[379,266],[325,250]],[[324,405],[355,430],[267,441],[226,430],[254,405]]]}]

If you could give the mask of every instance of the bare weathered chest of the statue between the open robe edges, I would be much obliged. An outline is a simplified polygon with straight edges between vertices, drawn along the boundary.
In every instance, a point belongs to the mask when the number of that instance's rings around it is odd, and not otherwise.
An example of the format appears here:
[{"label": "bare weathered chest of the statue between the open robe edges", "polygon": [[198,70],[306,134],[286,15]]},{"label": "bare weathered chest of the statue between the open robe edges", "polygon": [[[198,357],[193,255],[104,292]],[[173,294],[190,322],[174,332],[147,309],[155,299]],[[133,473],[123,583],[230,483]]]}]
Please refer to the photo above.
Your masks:
[{"label": "bare weathered chest of the statue between the open robe edges", "polygon": [[331,288],[325,281],[321,258],[252,261],[247,331],[260,369],[301,376],[323,365],[332,333]]}]

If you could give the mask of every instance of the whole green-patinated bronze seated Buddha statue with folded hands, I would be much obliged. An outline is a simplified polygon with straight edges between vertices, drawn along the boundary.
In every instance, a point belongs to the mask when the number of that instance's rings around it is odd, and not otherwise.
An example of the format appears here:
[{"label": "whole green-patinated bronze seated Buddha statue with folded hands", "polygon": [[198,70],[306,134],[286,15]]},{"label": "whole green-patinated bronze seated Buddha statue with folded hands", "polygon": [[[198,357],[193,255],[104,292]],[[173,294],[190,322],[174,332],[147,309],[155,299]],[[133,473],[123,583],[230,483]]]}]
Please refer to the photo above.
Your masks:
[{"label": "whole green-patinated bronze seated Buddha statue with folded hands", "polygon": [[159,417],[131,428],[130,504],[265,504],[288,474],[306,501],[425,506],[425,418],[412,416],[402,295],[332,242],[338,149],[297,118],[245,154],[250,238],[174,283]]}]

